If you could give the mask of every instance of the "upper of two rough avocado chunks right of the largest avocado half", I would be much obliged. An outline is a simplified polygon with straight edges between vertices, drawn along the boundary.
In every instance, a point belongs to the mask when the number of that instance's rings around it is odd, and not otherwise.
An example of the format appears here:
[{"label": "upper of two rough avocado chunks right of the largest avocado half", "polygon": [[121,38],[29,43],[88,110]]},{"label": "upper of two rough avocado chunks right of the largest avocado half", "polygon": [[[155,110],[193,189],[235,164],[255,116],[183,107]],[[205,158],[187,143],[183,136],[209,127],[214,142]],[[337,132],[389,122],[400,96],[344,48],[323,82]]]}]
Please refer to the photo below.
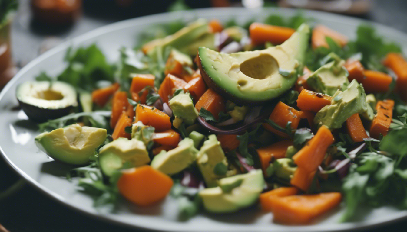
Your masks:
[{"label": "upper of two rough avocado chunks right of the largest avocado half", "polygon": [[316,92],[332,96],[338,89],[344,89],[349,85],[349,80],[348,71],[344,67],[345,61],[332,52],[328,57],[333,61],[313,72],[306,82]]}]

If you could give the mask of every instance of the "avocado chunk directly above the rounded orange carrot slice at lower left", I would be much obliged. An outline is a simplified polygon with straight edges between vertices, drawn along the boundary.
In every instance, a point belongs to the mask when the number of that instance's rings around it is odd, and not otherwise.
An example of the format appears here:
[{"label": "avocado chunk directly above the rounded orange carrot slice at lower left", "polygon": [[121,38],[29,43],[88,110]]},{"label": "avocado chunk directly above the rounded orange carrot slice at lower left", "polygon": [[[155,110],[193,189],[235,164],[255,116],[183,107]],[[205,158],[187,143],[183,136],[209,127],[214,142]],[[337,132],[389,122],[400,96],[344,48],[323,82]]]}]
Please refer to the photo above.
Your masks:
[{"label": "avocado chunk directly above the rounded orange carrot slice at lower left", "polygon": [[139,167],[150,162],[146,145],[137,139],[118,138],[107,143],[99,150],[99,156],[112,153],[121,158],[122,164],[129,162],[133,167]]}]

